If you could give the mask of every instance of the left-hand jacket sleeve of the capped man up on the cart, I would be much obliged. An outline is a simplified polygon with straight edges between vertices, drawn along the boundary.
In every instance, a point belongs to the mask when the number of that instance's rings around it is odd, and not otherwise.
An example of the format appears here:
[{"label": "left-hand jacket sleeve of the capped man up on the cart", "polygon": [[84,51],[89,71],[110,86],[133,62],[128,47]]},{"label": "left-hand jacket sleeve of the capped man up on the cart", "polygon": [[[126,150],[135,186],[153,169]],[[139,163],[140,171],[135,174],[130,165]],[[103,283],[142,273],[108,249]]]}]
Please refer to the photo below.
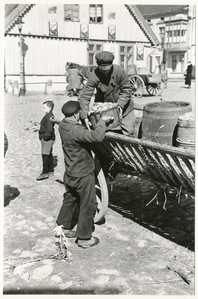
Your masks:
[{"label": "left-hand jacket sleeve of the capped man up on the cart", "polygon": [[97,86],[95,86],[93,80],[91,79],[91,76],[89,75],[89,79],[87,83],[85,84],[81,94],[78,96],[78,102],[81,106],[81,110],[80,110],[81,119],[87,118],[87,113],[89,111],[89,103],[94,93],[95,87]]}]

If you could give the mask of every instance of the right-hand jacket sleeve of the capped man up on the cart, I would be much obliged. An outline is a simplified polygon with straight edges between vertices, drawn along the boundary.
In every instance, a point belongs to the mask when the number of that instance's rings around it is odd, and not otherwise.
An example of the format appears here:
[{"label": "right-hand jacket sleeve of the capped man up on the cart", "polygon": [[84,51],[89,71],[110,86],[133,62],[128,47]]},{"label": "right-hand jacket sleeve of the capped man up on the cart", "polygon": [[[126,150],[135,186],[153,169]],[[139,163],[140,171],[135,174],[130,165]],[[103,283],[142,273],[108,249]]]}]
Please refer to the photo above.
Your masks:
[{"label": "right-hand jacket sleeve of the capped man up on the cart", "polygon": [[121,76],[120,76],[120,96],[117,101],[117,105],[119,105],[122,109],[124,109],[124,106],[126,103],[129,102],[131,95],[132,95],[132,88],[129,82],[129,78],[127,74],[125,73],[124,69],[122,70]]}]

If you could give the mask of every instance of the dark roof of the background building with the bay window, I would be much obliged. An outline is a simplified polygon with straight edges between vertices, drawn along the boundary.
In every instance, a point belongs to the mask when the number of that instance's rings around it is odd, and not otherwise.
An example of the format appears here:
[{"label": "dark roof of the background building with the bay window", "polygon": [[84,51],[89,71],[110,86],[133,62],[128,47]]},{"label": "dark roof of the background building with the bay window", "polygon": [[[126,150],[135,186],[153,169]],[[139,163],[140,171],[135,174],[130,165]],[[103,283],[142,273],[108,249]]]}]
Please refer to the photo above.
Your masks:
[{"label": "dark roof of the background building with the bay window", "polygon": [[142,15],[165,13],[170,11],[176,12],[184,10],[187,5],[136,5]]}]

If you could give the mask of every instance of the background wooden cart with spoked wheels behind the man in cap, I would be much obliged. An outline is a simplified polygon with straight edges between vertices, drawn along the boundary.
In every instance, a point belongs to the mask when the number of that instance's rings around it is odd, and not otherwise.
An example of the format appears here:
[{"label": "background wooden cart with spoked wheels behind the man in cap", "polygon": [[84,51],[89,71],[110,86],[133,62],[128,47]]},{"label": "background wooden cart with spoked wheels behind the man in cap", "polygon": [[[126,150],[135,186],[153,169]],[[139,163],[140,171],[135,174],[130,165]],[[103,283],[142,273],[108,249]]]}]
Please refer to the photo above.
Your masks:
[{"label": "background wooden cart with spoked wheels behind the man in cap", "polygon": [[[145,74],[140,74],[142,72]],[[160,95],[165,87],[163,76],[163,74],[147,74],[146,68],[140,70],[136,68],[136,65],[129,65],[128,77],[132,87],[132,97],[141,97],[145,87],[151,96]]]}]

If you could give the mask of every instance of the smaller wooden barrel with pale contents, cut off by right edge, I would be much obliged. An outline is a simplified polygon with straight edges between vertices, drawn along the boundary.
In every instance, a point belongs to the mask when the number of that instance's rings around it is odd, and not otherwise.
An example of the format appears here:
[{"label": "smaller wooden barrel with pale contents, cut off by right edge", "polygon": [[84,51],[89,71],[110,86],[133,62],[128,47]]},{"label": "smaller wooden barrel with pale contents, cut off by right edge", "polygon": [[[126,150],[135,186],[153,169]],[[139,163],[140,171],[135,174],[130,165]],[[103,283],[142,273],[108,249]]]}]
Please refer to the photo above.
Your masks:
[{"label": "smaller wooden barrel with pale contents, cut off by right edge", "polygon": [[179,116],[177,122],[177,147],[195,151],[195,113]]}]

